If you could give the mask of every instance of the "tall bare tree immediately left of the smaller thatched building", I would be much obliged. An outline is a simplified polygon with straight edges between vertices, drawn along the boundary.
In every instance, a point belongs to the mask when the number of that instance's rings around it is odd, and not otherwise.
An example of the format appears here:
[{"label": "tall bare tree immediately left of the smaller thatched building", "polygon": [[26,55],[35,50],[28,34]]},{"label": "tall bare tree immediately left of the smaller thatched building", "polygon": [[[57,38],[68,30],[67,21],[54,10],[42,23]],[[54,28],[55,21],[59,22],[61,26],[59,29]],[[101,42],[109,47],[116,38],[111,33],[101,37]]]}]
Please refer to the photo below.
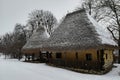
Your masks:
[{"label": "tall bare tree immediately left of the smaller thatched building", "polygon": [[17,54],[18,59],[21,57],[21,49],[26,43],[26,29],[24,25],[16,24],[13,32],[13,48],[14,53]]}]

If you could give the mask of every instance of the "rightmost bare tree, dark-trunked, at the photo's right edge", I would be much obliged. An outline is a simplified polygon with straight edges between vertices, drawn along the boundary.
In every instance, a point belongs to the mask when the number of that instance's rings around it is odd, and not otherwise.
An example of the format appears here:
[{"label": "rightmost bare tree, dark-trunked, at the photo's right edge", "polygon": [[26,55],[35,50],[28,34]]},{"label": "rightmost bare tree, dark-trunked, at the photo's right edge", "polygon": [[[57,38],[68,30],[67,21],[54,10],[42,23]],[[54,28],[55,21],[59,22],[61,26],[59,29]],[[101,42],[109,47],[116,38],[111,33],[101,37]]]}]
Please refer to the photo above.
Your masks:
[{"label": "rightmost bare tree, dark-trunked, at the photo's right edge", "polygon": [[[105,0],[104,5],[110,10],[108,15],[110,18],[110,25],[107,29],[120,47],[120,0]],[[120,50],[118,62],[120,63]]]}]

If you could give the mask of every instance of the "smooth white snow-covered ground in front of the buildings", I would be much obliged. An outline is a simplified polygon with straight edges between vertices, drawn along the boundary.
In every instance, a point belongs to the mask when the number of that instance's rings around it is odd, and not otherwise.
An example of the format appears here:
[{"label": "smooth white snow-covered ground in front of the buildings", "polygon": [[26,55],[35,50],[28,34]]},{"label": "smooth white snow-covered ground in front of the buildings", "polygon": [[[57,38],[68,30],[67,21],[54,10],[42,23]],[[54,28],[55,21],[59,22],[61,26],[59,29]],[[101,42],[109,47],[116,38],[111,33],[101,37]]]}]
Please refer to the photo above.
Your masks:
[{"label": "smooth white snow-covered ground in front of the buildings", "polygon": [[120,65],[105,75],[82,74],[43,63],[0,58],[0,80],[120,80]]}]

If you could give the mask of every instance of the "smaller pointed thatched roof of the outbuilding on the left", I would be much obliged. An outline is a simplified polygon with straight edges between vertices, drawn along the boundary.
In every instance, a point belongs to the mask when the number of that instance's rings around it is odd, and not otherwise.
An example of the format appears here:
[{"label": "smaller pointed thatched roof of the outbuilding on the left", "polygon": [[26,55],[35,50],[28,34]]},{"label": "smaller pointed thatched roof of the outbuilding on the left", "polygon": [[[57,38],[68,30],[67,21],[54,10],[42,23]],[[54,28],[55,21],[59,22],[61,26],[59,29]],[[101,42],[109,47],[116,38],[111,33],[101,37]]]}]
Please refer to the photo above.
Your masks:
[{"label": "smaller pointed thatched roof of the outbuilding on the left", "polygon": [[33,35],[27,41],[27,43],[23,46],[23,49],[35,49],[40,47],[40,44],[46,41],[50,35],[45,30],[45,27],[39,26],[36,31],[34,31]]}]

